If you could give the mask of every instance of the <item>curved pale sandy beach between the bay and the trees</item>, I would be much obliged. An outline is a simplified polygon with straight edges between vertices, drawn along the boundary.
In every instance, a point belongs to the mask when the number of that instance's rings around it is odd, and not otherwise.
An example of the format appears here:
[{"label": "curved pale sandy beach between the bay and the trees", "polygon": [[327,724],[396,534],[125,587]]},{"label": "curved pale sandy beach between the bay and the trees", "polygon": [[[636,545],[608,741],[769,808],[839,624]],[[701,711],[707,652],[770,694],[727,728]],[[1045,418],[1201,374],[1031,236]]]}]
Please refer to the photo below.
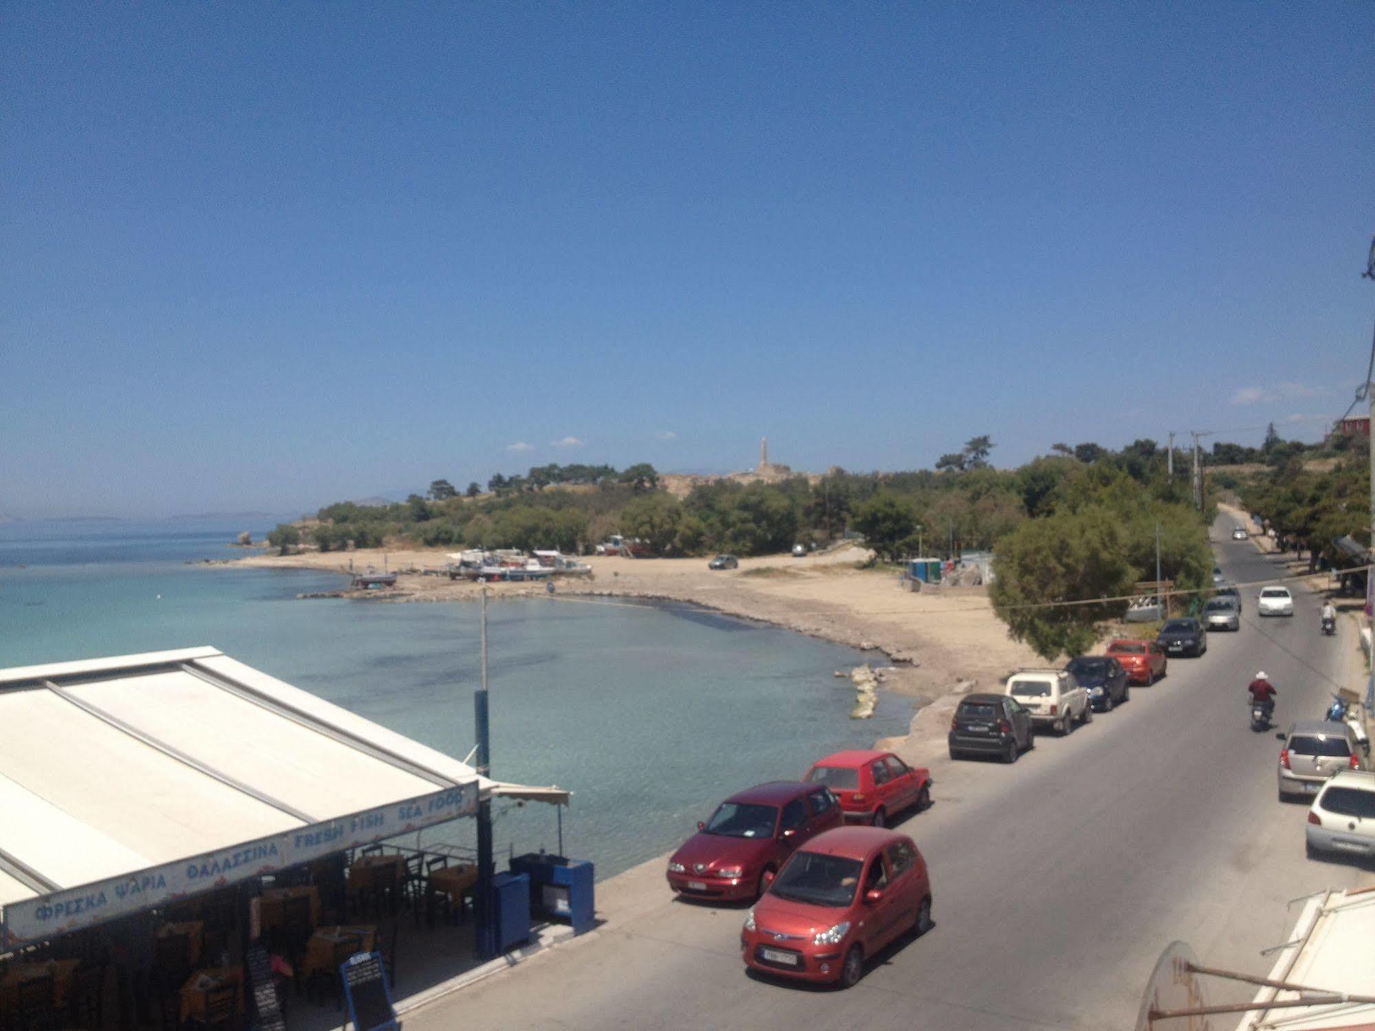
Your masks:
[{"label": "curved pale sandy beach between the bay and the trees", "polygon": [[[857,568],[865,558],[862,548],[846,547],[806,558],[741,558],[738,569],[714,572],[705,558],[594,555],[583,559],[593,566],[591,577],[560,579],[553,595],[543,583],[495,583],[487,590],[494,601],[542,597],[554,605],[615,603],[617,598],[688,602],[872,652],[870,664],[883,669],[881,687],[924,705],[913,734],[890,746],[912,762],[927,760],[945,751],[945,729],[958,694],[998,690],[1012,669],[1042,661],[1008,636],[986,588],[912,592],[891,569]],[[385,565],[399,572],[395,590],[345,591],[344,597],[374,603],[476,601],[481,586],[422,572],[444,562],[444,548],[414,548],[253,555],[230,564],[341,573]]]}]

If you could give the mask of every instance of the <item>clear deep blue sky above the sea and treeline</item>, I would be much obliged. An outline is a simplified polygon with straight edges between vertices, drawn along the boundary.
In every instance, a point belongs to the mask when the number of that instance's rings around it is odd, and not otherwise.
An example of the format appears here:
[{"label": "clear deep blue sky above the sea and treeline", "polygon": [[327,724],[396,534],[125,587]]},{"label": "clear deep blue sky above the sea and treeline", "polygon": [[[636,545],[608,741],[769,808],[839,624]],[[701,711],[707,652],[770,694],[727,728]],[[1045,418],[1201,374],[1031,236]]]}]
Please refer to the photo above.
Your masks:
[{"label": "clear deep blue sky above the sea and treeline", "polygon": [[0,513],[1342,414],[1375,4],[896,8],[7,4]]}]

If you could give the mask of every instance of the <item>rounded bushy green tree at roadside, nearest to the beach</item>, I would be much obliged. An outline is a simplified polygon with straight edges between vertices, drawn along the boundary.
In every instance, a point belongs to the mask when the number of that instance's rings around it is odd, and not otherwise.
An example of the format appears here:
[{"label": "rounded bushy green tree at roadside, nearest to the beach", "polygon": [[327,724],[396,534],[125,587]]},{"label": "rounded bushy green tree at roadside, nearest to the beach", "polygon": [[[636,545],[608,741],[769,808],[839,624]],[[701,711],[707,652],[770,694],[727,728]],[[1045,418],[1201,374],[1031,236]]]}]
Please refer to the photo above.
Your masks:
[{"label": "rounded bushy green tree at roadside, nearest to the beach", "polygon": [[1027,520],[998,542],[997,577],[989,588],[994,612],[1016,641],[1042,658],[1081,654],[1099,624],[1122,602],[1057,605],[1129,594],[1137,570],[1116,513],[1106,507],[1057,511]]}]

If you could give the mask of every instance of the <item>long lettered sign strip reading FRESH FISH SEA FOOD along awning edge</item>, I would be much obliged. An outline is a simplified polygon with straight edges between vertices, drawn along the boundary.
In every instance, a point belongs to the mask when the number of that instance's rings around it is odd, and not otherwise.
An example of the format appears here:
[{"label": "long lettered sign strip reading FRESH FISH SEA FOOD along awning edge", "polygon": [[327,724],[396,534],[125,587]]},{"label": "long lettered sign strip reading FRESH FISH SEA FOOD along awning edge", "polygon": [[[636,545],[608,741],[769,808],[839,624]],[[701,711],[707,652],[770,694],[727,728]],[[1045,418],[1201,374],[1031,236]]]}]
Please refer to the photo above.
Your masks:
[{"label": "long lettered sign strip reading FRESH FISH SEA FOOD along awning edge", "polygon": [[0,920],[0,946],[12,949],[41,942],[474,812],[476,781],[138,873],[12,902],[4,907]]}]

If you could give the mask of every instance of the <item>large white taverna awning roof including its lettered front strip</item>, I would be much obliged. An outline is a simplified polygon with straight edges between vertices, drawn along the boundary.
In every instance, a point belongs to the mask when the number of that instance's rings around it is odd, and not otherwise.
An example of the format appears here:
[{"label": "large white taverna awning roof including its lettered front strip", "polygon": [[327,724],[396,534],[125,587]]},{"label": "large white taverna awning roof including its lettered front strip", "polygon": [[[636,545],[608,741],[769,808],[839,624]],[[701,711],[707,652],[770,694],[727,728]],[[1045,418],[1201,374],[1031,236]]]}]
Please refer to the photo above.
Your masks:
[{"label": "large white taverna awning roof including its lettered front strip", "polygon": [[213,647],[0,669],[0,949],[472,815],[480,778]]}]

